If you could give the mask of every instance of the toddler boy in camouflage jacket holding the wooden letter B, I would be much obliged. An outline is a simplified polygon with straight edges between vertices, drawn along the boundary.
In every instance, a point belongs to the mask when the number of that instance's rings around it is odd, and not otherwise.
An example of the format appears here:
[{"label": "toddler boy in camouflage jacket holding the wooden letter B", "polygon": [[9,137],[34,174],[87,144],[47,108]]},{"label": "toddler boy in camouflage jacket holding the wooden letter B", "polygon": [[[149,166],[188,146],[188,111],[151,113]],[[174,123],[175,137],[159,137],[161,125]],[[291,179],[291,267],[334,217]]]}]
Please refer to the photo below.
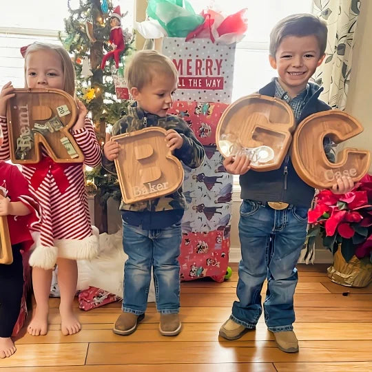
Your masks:
[{"label": "toddler boy in camouflage jacket holding the wooden letter B", "polygon": [[[125,77],[136,103],[116,122],[112,135],[134,132],[145,127],[163,127],[165,141],[174,156],[196,168],[204,159],[204,148],[185,121],[168,115],[178,74],[174,63],[154,50],[136,52],[127,65]],[[107,141],[103,148],[103,167],[115,172],[114,159],[119,145]],[[173,194],[132,204],[121,203],[123,247],[128,259],[124,271],[123,313],[114,333],[130,335],[143,320],[147,307],[151,271],[154,271],[156,307],[161,314],[162,335],[177,335],[181,323],[180,307],[180,220],[185,209],[182,187]]]}]

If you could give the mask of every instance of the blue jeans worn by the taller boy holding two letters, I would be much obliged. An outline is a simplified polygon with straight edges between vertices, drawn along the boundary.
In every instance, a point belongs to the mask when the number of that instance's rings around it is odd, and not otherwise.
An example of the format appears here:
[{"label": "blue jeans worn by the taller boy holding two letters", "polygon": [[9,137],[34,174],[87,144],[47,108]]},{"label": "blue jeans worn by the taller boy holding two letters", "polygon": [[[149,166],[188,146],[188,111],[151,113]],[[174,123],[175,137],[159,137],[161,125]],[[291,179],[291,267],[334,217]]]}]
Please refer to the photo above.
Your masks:
[{"label": "blue jeans worn by the taller boy holding two letters", "polygon": [[261,295],[267,278],[265,322],[272,332],[292,331],[293,295],[298,282],[296,263],[307,235],[306,207],[275,210],[254,200],[240,206],[242,260],[231,319],[256,327],[262,313]]}]

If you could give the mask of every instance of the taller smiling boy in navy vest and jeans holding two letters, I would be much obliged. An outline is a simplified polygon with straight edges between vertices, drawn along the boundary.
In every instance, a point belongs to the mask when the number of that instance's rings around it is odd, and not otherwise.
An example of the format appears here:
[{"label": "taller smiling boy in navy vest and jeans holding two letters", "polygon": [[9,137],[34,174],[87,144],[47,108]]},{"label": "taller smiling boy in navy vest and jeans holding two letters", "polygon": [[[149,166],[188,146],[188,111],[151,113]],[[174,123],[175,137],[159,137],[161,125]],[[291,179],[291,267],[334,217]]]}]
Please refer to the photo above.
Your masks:
[{"label": "taller smiling boy in navy vest and jeans holding two letters", "polygon": [[[324,59],[327,25],[311,14],[294,14],[279,21],[270,34],[269,61],[278,78],[259,90],[287,102],[300,123],[331,107],[318,99],[320,88],[309,79]],[[315,141],[315,138],[309,138]],[[329,158],[331,143],[324,140]],[[298,282],[296,262],[307,236],[307,211],[314,189],[302,181],[289,153],[280,169],[249,170],[246,156],[229,156],[227,172],[240,174],[241,198],[239,238],[242,260],[236,293],[238,301],[220,328],[220,335],[236,340],[255,329],[262,313],[260,291],[267,278],[265,322],[280,350],[298,351],[293,332],[293,295]],[[332,191],[338,194],[353,187],[349,177],[339,178]]]}]

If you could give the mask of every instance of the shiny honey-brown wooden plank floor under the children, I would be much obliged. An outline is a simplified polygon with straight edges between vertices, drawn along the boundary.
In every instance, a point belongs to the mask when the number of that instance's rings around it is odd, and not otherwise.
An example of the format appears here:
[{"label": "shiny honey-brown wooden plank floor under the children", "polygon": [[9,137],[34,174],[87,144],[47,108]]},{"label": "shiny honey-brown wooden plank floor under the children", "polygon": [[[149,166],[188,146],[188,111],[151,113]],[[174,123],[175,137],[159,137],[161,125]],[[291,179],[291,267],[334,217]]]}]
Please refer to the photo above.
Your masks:
[{"label": "shiny honey-brown wooden plank floor under the children", "polygon": [[[175,338],[158,333],[159,316],[149,304],[143,323],[127,337],[112,333],[121,304],[84,312],[80,333],[61,334],[59,299],[50,299],[50,331],[16,341],[17,353],[0,360],[0,372],[238,372],[372,371],[372,286],[349,289],[332,283],[327,265],[299,265],[295,330],[297,354],[276,348],[260,318],[256,331],[240,340],[218,338],[236,298],[236,265],[223,283],[183,282],[183,331]],[[265,290],[265,288],[264,288]],[[348,296],[342,293],[349,292]]]}]

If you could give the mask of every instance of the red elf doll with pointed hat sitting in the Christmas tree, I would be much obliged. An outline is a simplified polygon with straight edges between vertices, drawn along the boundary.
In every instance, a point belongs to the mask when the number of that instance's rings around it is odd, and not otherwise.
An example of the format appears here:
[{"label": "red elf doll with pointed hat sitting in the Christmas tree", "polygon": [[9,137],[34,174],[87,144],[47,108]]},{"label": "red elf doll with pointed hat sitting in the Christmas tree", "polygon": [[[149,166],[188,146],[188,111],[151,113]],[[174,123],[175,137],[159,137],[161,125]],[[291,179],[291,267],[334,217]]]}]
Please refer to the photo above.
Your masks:
[{"label": "red elf doll with pointed hat sitting in the Christmas tree", "polygon": [[114,58],[116,68],[118,68],[118,61],[120,59],[120,54],[125,50],[125,42],[123,37],[123,30],[121,29],[121,12],[120,6],[116,6],[112,16],[110,17],[110,43],[114,50],[108,52],[103,56],[101,63],[101,70],[105,68],[107,59]]}]

